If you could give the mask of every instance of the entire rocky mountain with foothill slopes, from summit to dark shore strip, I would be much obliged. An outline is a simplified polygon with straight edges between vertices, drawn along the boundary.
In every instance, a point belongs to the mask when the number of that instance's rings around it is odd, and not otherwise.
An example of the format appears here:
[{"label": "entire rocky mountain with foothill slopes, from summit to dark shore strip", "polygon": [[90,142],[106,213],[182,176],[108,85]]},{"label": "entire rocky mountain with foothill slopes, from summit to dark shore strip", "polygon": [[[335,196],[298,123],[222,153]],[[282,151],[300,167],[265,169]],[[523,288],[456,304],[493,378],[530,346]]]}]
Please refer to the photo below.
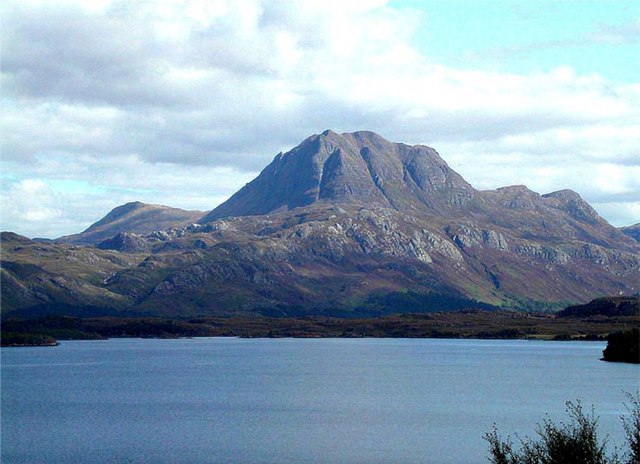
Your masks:
[{"label": "entire rocky mountain with foothill slopes, from summit to dark shore strip", "polygon": [[371,132],[309,137],[194,224],[144,230],[116,210],[94,225],[111,236],[84,236],[92,246],[3,236],[3,311],[372,315],[562,306],[640,286],[638,242],[577,193],[479,191],[432,148]]}]

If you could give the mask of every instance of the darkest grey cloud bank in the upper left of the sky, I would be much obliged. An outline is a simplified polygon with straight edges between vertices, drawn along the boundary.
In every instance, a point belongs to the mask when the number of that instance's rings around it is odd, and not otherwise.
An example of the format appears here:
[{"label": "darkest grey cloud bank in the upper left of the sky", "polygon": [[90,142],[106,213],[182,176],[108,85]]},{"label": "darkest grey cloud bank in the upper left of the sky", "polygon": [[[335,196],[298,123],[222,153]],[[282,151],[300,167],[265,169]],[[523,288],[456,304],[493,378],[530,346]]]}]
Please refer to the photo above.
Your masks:
[{"label": "darkest grey cloud bank in the upper left of the sky", "polygon": [[[194,98],[188,86],[167,82],[172,68],[198,64],[234,71],[234,59],[240,59],[225,56],[226,49],[233,50],[225,46],[225,34],[217,44],[184,49],[157,40],[148,22],[126,16],[95,17],[64,8],[18,7],[3,13],[10,23],[2,34],[3,84],[9,94],[22,97],[124,108],[192,106],[201,97]],[[204,49],[213,54],[207,63],[189,61]],[[207,84],[215,94],[215,82]]]}]

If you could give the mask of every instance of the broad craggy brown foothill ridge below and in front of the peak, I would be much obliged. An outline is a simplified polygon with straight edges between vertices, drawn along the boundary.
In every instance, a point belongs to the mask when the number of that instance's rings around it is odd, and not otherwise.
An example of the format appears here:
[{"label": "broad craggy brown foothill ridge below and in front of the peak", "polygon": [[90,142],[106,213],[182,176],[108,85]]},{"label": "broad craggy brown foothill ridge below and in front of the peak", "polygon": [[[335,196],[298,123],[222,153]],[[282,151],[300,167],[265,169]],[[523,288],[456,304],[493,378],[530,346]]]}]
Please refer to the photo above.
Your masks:
[{"label": "broad craggy brown foothill ridge below and in front of the peak", "polygon": [[631,252],[392,209],[304,208],[120,234],[2,236],[2,313],[376,316],[559,309],[637,291]]}]

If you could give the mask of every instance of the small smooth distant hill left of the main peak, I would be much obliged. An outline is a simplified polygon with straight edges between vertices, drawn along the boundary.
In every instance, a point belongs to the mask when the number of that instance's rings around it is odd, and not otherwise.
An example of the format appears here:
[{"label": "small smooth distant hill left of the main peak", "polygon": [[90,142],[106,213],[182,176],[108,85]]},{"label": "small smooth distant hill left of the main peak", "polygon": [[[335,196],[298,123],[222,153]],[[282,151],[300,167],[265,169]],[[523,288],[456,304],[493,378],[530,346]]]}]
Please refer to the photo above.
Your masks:
[{"label": "small smooth distant hill left of the main peak", "polygon": [[56,239],[60,243],[96,244],[120,233],[149,234],[155,230],[185,227],[196,222],[201,211],[185,211],[139,201],[114,208],[83,232]]}]

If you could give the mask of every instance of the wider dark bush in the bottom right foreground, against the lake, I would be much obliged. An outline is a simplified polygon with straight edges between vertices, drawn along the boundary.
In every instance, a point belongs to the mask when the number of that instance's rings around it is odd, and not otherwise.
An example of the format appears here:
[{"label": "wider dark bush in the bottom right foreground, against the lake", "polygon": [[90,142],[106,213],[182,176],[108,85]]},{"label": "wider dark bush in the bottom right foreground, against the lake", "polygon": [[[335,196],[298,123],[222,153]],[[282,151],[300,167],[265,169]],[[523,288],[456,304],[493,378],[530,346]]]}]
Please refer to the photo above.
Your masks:
[{"label": "wider dark bush in the bottom right foreground, against the lake", "polygon": [[546,418],[538,424],[538,440],[522,440],[521,449],[513,449],[507,438],[502,441],[494,428],[485,434],[489,443],[493,464],[614,464],[620,460],[616,455],[607,455],[606,441],[598,436],[598,420],[593,412],[587,415],[580,402],[567,403],[567,414],[571,421],[559,426]]}]

